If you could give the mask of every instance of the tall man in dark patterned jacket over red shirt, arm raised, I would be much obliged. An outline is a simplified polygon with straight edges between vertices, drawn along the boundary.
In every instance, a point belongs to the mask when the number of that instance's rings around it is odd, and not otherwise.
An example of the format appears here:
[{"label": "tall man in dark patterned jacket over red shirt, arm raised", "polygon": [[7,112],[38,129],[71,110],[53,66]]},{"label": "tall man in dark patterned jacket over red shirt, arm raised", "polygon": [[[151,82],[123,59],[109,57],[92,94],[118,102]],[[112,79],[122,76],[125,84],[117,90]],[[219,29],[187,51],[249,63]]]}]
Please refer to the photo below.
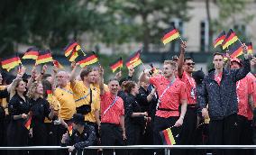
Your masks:
[{"label": "tall man in dark patterned jacket over red shirt, arm raised", "polygon": [[[203,91],[197,100],[202,108],[202,116],[209,112],[209,144],[235,145],[237,141],[237,113],[236,82],[250,72],[247,47],[243,45],[244,63],[239,69],[224,68],[224,56],[214,54],[215,70],[209,72],[203,81]],[[208,108],[206,107],[208,103]],[[222,154],[223,150],[213,150],[215,154]],[[235,154],[236,150],[224,150],[224,154]]]}]

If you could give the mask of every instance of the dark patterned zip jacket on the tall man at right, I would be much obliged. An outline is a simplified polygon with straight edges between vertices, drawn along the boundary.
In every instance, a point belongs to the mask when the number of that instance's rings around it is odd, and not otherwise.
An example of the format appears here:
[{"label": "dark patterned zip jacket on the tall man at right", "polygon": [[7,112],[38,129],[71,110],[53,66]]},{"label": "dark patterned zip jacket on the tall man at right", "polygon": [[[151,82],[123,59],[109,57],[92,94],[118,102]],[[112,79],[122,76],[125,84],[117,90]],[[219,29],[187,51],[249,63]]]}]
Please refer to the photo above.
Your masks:
[{"label": "dark patterned zip jacket on the tall man at right", "polygon": [[212,120],[222,120],[238,112],[236,81],[250,72],[250,61],[245,59],[243,68],[223,71],[220,86],[215,81],[215,71],[211,71],[203,80],[202,91],[197,96],[200,108],[206,107]]}]

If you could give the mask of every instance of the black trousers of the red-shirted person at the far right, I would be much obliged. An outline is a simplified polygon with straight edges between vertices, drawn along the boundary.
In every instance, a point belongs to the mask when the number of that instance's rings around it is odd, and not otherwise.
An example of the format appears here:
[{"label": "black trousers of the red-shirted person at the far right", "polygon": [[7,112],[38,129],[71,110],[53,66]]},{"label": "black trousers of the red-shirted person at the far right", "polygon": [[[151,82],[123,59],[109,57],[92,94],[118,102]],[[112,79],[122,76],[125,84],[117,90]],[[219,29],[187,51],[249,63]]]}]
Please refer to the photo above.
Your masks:
[{"label": "black trousers of the red-shirted person at the far right", "polygon": [[[239,145],[252,145],[252,126],[251,121],[242,115],[238,115],[237,136]],[[238,154],[251,155],[253,150],[238,150]]]}]

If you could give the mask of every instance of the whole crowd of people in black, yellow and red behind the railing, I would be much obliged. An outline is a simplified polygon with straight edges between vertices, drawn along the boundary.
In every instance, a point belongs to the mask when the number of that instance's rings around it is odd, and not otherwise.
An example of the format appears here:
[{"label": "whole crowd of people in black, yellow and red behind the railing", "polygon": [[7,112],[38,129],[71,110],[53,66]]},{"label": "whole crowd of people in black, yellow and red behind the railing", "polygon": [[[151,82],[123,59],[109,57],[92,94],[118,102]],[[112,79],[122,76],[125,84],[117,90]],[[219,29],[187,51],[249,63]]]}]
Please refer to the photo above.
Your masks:
[{"label": "whole crowd of people in black, yellow and red behind the railing", "polygon": [[[163,68],[143,69],[134,78],[116,73],[104,80],[104,67],[71,73],[47,66],[16,78],[0,75],[1,146],[71,146],[69,150],[0,150],[9,155],[164,154],[164,150],[83,150],[87,146],[162,145],[160,132],[170,129],[178,145],[251,145],[256,103],[256,59],[243,47],[244,59],[216,52],[207,75],[179,57]],[[28,72],[28,70],[27,70]],[[79,75],[77,74],[79,72]],[[254,115],[255,117],[256,115]],[[255,132],[256,133],[256,132]],[[254,135],[255,136],[255,135]],[[170,150],[170,154],[253,154],[253,150]]]}]

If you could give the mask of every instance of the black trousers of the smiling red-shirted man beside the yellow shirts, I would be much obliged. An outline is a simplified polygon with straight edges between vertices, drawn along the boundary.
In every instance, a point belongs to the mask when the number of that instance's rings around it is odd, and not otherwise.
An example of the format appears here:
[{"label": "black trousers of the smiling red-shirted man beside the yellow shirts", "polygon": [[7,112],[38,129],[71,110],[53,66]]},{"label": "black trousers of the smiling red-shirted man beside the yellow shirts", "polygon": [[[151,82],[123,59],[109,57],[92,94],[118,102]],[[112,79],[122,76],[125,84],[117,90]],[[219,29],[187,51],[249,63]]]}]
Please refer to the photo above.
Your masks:
[{"label": "black trousers of the smiling red-shirted man beside the yellow shirts", "polygon": [[[123,146],[123,131],[121,126],[113,123],[101,123],[101,144],[103,146]],[[113,155],[114,150],[103,150],[104,155]],[[124,155],[124,150],[115,150],[115,155]]]}]

